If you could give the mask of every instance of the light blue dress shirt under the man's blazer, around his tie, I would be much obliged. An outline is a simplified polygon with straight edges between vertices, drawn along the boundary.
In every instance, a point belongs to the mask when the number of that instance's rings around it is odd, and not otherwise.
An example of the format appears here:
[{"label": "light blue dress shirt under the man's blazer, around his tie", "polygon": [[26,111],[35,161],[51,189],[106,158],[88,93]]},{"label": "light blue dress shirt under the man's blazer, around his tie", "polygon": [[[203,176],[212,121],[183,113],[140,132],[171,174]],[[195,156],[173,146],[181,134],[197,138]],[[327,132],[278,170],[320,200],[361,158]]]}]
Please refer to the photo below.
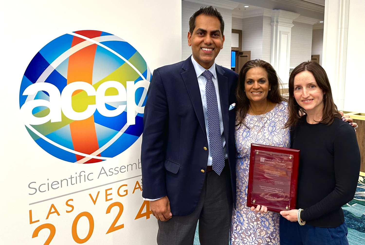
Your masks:
[{"label": "light blue dress shirt under the man's blazer, around his tie", "polygon": [[[201,103],[203,104],[203,112],[204,112],[204,119],[205,119],[205,131],[207,133],[208,150],[209,150],[207,166],[212,166],[212,154],[210,152],[209,129],[208,129],[207,97],[205,96],[205,84],[207,83],[207,78],[205,78],[202,75],[202,73],[205,71],[205,68],[203,66],[199,65],[198,62],[195,61],[193,56],[191,56],[191,61],[193,62],[196,77],[198,79],[200,96],[201,96]],[[217,73],[215,71],[215,62],[208,70],[213,74],[212,75],[212,80],[213,80],[213,83],[214,83],[215,92],[217,94],[217,102],[218,102],[220,135],[222,136],[224,159],[227,159],[228,156],[227,156],[227,149],[226,149],[226,139],[224,139],[224,134],[223,134],[222,109],[220,108],[218,78],[217,78]]]}]

